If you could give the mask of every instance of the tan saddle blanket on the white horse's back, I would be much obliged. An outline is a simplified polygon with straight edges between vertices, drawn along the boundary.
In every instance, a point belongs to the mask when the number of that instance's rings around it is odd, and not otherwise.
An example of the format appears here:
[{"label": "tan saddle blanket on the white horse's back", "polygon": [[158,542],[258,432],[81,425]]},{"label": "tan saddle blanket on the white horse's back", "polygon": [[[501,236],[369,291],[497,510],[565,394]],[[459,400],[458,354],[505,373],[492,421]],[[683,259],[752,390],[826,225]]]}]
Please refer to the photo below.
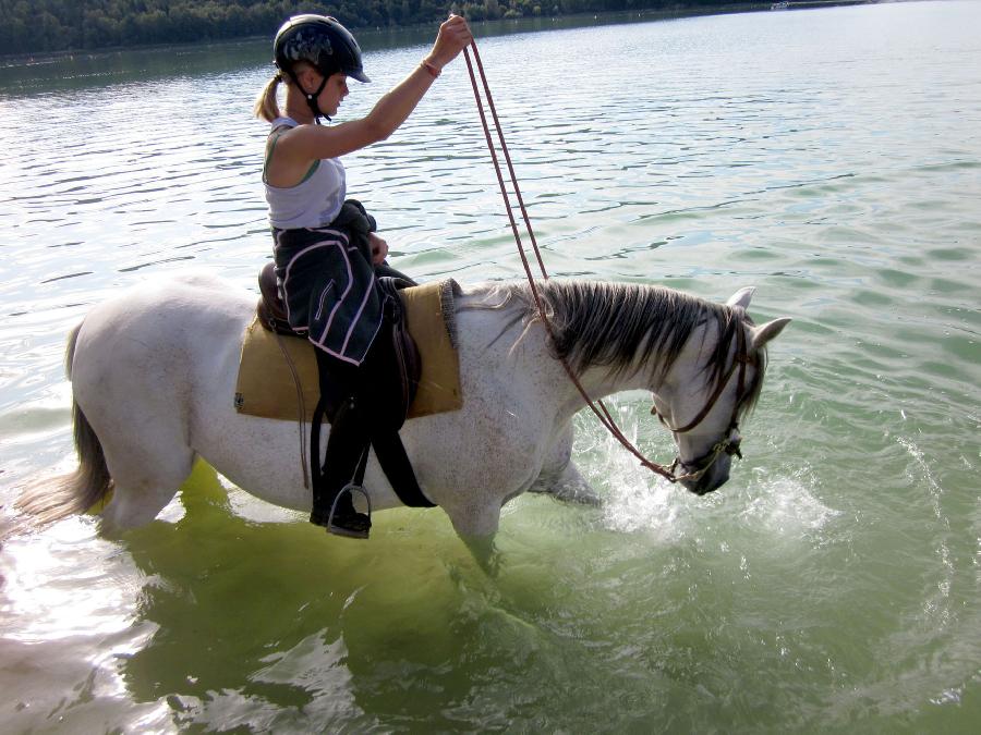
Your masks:
[{"label": "tan saddle blanket on the white horse's back", "polygon": [[[460,286],[452,279],[399,292],[409,333],[415,340],[422,378],[409,418],[463,406],[460,357],[457,353],[453,297]],[[305,339],[268,331],[256,317],[245,328],[235,408],[241,414],[296,421],[313,417],[320,391],[314,346]]]}]

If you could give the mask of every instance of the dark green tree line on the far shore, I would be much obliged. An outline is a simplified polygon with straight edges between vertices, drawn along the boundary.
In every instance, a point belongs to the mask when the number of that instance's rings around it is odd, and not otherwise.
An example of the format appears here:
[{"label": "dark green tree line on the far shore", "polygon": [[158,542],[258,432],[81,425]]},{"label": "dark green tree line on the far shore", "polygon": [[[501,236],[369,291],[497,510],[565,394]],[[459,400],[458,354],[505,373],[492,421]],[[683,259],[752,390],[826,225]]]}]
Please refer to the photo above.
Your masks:
[{"label": "dark green tree line on the far shore", "polygon": [[[298,13],[351,28],[429,23],[449,12],[471,21],[568,13],[697,8],[724,0],[0,0],[0,54],[94,50],[271,36]],[[729,0],[726,4],[740,3]]]}]

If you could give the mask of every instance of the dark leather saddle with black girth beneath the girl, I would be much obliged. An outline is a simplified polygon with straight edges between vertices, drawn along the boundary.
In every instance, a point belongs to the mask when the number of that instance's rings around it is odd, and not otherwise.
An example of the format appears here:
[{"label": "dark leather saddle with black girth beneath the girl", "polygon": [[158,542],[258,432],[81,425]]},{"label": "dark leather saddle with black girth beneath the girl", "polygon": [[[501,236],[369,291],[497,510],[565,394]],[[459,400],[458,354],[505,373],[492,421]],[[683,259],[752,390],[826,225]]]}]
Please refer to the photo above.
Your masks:
[{"label": "dark leather saddle with black girth beneath the girl", "polygon": [[[397,273],[397,271],[390,271]],[[259,323],[264,328],[277,334],[291,338],[301,338],[302,335],[290,328],[287,319],[286,306],[279,294],[279,287],[276,282],[276,270],[271,262],[265,265],[259,271],[259,301],[256,307],[256,316]],[[391,335],[393,354],[396,356],[396,365],[393,370],[398,376],[398,400],[397,405],[392,406],[390,420],[395,422],[393,428],[400,429],[405,422],[409,415],[409,407],[415,399],[419,389],[419,381],[422,377],[422,360],[420,359],[419,350],[415,341],[409,333],[405,326],[405,315],[402,308],[402,301],[399,298],[399,291],[415,285],[412,281],[401,278],[400,275],[379,275],[377,278],[378,289],[382,295],[383,315]],[[385,334],[383,332],[382,334]],[[382,338],[379,334],[379,338]],[[319,406],[318,406],[319,411]],[[311,433],[311,455],[317,451],[319,446],[319,421],[320,416],[315,413],[312,424]],[[434,507],[434,503],[423,494],[412,469],[412,465],[402,446],[402,442],[398,433],[387,434],[385,441],[373,440],[375,454],[382,469],[391,483],[399,497],[405,505],[410,507]],[[379,443],[380,442],[380,443]],[[365,455],[365,460],[366,460]],[[313,467],[312,467],[313,469]],[[359,471],[363,474],[363,462]]]}]

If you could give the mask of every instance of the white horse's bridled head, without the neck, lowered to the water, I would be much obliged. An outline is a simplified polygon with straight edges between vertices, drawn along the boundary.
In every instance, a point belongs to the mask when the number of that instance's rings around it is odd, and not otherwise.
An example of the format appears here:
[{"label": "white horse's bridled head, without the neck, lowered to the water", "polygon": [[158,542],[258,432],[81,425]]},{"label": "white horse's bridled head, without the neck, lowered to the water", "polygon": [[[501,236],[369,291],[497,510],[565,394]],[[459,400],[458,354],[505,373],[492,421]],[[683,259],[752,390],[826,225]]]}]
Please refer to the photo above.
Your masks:
[{"label": "white horse's bridled head, without the neck, lowered to the water", "polygon": [[[699,359],[679,365],[669,385],[655,393],[652,413],[675,437],[678,456],[671,471],[688,490],[704,495],[729,479],[732,457],[739,456],[739,419],[759,396],[766,368],[766,343],[790,319],[756,327],[746,316],[755,289],[738,291],[726,303],[735,318],[718,326],[693,347]],[[706,327],[707,329],[707,327]],[[704,353],[708,359],[702,359]]]}]

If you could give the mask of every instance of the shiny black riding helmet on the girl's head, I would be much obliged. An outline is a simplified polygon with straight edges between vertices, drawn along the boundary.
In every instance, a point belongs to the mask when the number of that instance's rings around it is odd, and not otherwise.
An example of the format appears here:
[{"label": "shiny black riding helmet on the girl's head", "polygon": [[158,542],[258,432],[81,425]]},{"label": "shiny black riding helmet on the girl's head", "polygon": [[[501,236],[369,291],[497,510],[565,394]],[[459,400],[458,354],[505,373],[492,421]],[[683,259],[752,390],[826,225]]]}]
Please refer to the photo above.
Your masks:
[{"label": "shiny black riding helmet on the girl's head", "polygon": [[272,41],[279,70],[293,76],[293,64],[307,61],[325,77],[342,73],[359,82],[371,82],[361,64],[361,47],[354,36],[328,15],[293,15],[282,24]]}]

